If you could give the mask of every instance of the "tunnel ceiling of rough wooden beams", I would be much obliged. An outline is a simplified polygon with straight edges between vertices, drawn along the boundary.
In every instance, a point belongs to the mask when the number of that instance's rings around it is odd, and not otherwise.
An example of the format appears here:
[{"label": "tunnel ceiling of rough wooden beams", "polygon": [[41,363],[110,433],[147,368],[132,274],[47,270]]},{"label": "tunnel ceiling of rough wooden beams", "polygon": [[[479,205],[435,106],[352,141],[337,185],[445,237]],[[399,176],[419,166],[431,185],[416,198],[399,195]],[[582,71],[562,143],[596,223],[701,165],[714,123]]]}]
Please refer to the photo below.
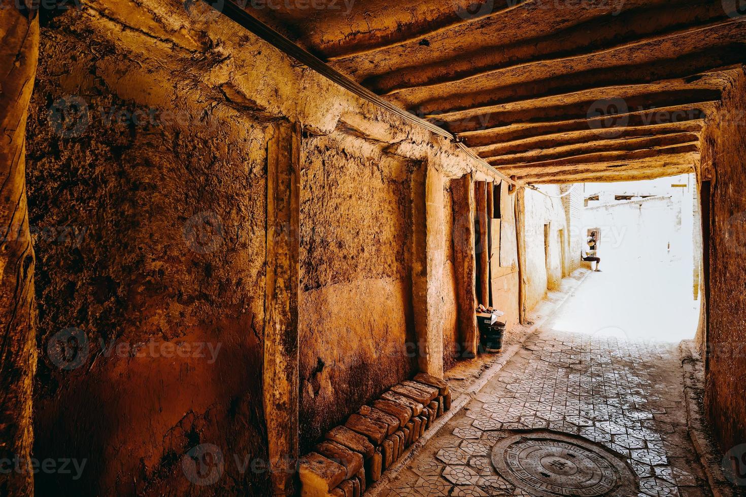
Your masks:
[{"label": "tunnel ceiling of rough wooden beams", "polygon": [[692,171],[746,62],[736,0],[347,1],[248,10],[533,183]]}]

